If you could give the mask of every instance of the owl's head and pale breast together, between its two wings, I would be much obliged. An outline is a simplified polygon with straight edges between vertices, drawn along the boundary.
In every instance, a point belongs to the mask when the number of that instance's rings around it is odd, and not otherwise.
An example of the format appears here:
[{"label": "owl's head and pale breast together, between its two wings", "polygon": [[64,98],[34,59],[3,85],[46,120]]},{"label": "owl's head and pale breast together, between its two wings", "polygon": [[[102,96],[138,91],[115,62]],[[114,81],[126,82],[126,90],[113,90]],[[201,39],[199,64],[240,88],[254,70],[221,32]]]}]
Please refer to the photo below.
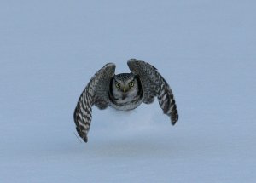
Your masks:
[{"label": "owl's head and pale breast together, between its two wings", "polygon": [[140,79],[132,73],[113,77],[109,86],[110,106],[117,110],[135,109],[143,102],[143,88]]}]

